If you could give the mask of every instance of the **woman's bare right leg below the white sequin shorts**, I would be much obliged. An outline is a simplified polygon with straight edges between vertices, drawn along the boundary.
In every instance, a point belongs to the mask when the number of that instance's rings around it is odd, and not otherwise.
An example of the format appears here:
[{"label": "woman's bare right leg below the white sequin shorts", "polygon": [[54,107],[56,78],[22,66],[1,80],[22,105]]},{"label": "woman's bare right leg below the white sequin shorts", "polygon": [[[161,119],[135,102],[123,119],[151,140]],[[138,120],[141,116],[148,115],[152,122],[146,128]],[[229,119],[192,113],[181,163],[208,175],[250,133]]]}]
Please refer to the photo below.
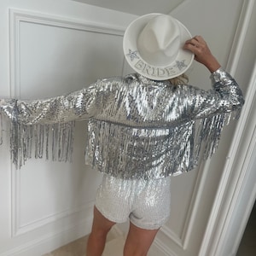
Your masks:
[{"label": "woman's bare right leg below the white sequin shorts", "polygon": [[143,230],[130,223],[124,256],[146,256],[158,230]]}]

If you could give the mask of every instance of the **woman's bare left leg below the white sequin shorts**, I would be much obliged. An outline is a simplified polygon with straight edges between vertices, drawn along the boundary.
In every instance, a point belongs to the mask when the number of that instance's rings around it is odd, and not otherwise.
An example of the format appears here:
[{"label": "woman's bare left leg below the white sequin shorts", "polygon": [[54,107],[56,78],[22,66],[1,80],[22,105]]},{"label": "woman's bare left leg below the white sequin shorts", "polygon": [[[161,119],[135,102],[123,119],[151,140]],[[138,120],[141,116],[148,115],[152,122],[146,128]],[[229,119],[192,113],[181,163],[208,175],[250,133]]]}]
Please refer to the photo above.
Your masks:
[{"label": "woman's bare left leg below the white sequin shorts", "polygon": [[113,227],[114,222],[105,218],[101,212],[94,207],[94,218],[87,243],[86,256],[102,256],[108,231]]}]

